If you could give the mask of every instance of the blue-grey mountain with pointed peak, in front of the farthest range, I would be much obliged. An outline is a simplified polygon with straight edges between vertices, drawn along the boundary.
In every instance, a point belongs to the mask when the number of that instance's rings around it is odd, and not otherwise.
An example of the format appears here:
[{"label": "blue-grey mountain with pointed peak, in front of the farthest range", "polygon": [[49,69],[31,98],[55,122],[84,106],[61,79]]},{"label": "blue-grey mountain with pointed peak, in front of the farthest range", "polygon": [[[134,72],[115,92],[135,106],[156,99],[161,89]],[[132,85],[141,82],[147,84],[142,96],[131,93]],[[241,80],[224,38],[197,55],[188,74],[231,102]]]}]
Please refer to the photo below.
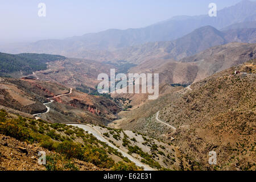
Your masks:
[{"label": "blue-grey mountain with pointed peak, in front of the farthest range", "polygon": [[[146,64],[148,60],[174,59],[195,55],[213,46],[231,42],[255,43],[256,28],[218,31],[211,26],[198,28],[188,35],[169,42],[149,42],[106,55],[107,60],[127,60],[135,64]],[[109,57],[108,57],[109,56]],[[98,60],[95,57],[96,60]]]}]

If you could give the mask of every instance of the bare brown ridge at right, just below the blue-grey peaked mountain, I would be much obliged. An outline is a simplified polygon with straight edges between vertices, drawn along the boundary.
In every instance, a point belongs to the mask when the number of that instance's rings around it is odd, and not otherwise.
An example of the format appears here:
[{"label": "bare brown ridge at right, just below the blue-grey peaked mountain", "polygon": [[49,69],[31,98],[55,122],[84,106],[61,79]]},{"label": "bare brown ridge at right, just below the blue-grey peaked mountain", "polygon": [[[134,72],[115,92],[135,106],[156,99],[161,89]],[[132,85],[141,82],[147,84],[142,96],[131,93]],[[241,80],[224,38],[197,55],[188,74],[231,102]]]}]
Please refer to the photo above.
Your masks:
[{"label": "bare brown ridge at right, just below the blue-grey peaked mountain", "polygon": [[[134,68],[131,73],[159,73],[160,83],[191,84],[216,72],[244,63],[256,57],[256,44],[229,43],[215,46],[195,56],[173,60],[151,60]],[[150,67],[147,67],[150,65]]]}]

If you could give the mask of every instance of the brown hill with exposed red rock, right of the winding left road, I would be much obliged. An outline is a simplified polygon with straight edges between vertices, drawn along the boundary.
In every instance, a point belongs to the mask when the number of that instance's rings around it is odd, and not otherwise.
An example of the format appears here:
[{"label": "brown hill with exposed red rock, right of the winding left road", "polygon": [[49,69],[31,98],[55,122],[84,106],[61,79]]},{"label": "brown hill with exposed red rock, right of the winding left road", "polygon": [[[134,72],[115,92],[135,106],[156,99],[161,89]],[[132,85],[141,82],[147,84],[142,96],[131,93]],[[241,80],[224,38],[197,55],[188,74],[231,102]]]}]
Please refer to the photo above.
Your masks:
[{"label": "brown hill with exposed red rock, right of the winding left road", "polygon": [[39,115],[48,122],[57,123],[93,123],[105,125],[117,117],[115,114],[121,111],[117,104],[108,98],[91,96],[86,93],[73,90],[71,95],[53,99],[48,106],[51,110],[47,114]]}]

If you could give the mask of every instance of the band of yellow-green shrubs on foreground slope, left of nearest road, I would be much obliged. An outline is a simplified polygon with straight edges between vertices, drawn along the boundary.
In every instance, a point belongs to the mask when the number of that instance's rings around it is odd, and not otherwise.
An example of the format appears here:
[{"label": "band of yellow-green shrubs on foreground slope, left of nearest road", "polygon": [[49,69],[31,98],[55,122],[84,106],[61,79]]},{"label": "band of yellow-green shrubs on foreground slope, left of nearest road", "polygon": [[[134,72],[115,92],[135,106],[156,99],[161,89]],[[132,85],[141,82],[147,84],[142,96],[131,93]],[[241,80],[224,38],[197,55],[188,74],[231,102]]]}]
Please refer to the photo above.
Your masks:
[{"label": "band of yellow-green shrubs on foreground slope, left of nearest road", "polygon": [[[0,110],[0,133],[22,142],[38,142],[41,147],[61,154],[61,156],[47,157],[49,160],[46,165],[47,170],[77,170],[75,164],[71,163],[71,159],[79,159],[101,168],[141,169],[105,142],[97,140],[92,134],[85,133],[77,127],[58,123],[49,124],[41,119],[36,121],[13,117],[9,116],[5,110]],[[70,135],[73,136],[69,137]],[[82,139],[83,142],[77,142],[78,139]],[[110,158],[111,155],[119,156],[123,162],[115,163]],[[60,161],[63,165],[59,165]]]}]

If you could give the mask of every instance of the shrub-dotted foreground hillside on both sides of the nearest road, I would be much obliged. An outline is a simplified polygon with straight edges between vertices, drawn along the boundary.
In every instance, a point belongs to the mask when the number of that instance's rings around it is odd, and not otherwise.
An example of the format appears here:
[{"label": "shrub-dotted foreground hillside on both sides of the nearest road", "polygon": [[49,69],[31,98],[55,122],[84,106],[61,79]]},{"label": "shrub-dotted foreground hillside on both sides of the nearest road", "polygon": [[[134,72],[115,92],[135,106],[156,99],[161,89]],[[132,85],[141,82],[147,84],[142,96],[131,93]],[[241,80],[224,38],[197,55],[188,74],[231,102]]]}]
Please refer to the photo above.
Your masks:
[{"label": "shrub-dotted foreground hillside on both sides of the nearest road", "polygon": [[[119,151],[152,170],[180,170],[186,164],[179,147],[171,143],[133,131],[90,128],[115,148],[79,127],[49,124],[0,110],[0,170],[142,170]],[[39,151],[46,152],[43,166],[37,163]]]}]

